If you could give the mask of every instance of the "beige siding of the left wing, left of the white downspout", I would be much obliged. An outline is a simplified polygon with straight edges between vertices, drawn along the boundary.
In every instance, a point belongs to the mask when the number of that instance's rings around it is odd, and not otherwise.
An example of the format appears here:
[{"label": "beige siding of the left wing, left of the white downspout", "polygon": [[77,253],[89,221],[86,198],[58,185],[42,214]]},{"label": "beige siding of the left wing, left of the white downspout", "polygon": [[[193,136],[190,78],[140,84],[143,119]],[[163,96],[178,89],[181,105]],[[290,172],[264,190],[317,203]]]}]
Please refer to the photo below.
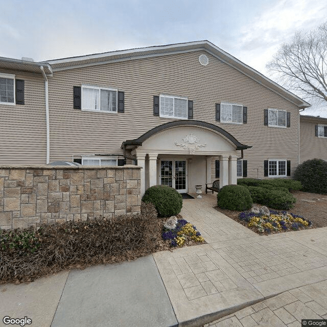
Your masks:
[{"label": "beige siding of the left wing, left of the white downspout", "polygon": [[3,71],[25,81],[25,105],[0,105],[0,165],[46,162],[45,91],[41,74]]}]

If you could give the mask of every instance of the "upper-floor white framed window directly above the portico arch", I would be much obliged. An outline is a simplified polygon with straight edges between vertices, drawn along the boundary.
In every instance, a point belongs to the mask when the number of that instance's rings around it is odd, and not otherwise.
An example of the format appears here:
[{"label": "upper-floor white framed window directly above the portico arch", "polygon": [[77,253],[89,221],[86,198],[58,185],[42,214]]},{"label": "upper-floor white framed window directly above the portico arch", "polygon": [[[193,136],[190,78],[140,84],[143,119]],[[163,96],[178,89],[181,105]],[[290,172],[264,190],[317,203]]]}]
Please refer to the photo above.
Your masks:
[{"label": "upper-floor white framed window directly above the portico arch", "polygon": [[188,98],[160,95],[160,117],[188,119]]}]

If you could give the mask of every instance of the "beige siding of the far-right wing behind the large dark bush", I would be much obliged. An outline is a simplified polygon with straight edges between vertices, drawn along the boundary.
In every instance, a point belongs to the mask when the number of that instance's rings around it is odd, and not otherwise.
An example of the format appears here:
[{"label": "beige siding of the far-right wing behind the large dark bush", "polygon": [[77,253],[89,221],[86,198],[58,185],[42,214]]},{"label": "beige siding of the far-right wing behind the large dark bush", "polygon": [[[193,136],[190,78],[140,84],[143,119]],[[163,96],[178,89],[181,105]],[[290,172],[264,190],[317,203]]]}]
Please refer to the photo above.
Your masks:
[{"label": "beige siding of the far-right wing behind the large dark bush", "polygon": [[315,136],[315,125],[327,122],[300,116],[300,162],[314,158],[327,160],[327,138]]}]

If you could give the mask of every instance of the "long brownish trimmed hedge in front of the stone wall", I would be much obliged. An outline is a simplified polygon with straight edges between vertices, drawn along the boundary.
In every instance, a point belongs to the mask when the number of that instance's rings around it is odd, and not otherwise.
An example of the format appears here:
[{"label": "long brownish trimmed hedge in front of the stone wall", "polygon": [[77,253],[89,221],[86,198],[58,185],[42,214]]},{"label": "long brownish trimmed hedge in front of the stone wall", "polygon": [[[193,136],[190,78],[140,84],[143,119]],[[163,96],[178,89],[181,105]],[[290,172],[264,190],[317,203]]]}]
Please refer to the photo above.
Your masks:
[{"label": "long brownish trimmed hedge in front of the stone wall", "polygon": [[161,248],[154,207],[111,219],[66,221],[33,228],[0,229],[0,284],[31,282],[64,269],[134,260]]}]

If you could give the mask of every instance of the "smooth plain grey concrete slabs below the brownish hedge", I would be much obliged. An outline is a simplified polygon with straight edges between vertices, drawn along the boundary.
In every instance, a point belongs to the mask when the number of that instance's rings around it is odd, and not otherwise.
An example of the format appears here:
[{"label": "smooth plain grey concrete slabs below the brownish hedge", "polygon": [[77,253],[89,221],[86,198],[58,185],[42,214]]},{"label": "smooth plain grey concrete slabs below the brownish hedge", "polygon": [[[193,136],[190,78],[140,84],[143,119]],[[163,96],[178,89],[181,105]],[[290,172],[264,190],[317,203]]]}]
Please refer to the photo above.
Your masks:
[{"label": "smooth plain grey concrete slabs below the brownish hedge", "polygon": [[122,264],[0,286],[4,316],[32,319],[36,327],[177,326],[152,255]]}]

